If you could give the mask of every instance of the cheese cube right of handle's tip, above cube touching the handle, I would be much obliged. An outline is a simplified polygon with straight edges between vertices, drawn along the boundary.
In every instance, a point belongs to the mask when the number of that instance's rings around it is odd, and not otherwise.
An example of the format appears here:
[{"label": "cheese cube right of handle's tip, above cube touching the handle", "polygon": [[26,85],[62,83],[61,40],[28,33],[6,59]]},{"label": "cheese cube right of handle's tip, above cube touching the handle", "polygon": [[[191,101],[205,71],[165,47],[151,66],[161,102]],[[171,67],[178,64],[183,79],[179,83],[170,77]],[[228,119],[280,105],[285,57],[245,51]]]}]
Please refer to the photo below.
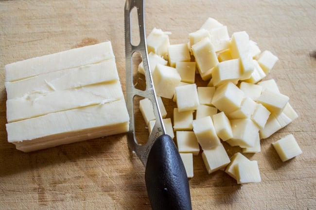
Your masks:
[{"label": "cheese cube right of handle's tip, above cube touching the handle", "polygon": [[176,131],[176,143],[180,153],[198,155],[200,146],[193,131]]}]

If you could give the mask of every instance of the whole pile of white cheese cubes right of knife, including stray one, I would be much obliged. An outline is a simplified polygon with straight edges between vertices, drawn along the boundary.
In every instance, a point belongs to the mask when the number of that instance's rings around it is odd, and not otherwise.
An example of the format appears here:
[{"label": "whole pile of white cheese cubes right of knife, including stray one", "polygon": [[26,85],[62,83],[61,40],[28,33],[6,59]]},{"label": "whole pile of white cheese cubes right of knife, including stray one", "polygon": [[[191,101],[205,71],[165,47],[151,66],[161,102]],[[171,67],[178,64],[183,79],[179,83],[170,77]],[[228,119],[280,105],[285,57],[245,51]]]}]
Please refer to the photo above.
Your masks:
[{"label": "whole pile of white cheese cubes right of knife, including stray one", "polygon": [[[167,133],[176,136],[188,177],[193,177],[193,155],[201,147],[208,173],[226,167],[237,183],[260,182],[257,161],[241,153],[229,158],[221,141],[242,147],[243,153],[260,152],[261,139],[298,117],[276,82],[263,81],[278,58],[270,51],[261,52],[244,31],[229,37],[227,27],[213,18],[190,33],[187,43],[171,45],[169,34],[152,30],[147,37],[148,59],[163,117],[161,97],[176,102],[173,120],[164,119],[164,124]],[[139,72],[144,72],[142,63]],[[196,77],[208,85],[197,87]],[[140,111],[150,132],[155,115],[147,98],[140,101]],[[301,153],[293,135],[285,138],[291,140],[273,144],[282,161]]]}]

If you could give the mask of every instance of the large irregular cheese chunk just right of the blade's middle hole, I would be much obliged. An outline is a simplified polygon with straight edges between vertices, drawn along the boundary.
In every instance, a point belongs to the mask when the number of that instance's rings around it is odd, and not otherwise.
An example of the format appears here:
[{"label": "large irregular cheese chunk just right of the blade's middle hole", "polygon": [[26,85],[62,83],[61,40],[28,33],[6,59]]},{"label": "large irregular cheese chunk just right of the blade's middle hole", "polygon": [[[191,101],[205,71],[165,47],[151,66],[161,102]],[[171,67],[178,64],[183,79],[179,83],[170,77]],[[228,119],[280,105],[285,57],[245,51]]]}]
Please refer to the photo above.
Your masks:
[{"label": "large irregular cheese chunk just right of the blade's middle hole", "polygon": [[153,72],[153,82],[157,96],[171,99],[175,95],[175,87],[181,81],[179,73],[176,68],[156,65]]}]

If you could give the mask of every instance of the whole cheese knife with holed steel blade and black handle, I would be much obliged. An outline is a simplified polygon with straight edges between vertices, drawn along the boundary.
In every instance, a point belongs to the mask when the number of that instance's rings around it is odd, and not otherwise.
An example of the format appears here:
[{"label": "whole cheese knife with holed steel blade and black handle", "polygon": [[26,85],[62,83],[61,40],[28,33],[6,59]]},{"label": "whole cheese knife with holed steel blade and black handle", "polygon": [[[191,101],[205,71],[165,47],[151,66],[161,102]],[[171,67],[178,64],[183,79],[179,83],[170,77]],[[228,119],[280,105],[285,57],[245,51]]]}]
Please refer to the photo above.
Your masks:
[{"label": "whole cheese knife with holed steel blade and black handle", "polygon": [[[137,9],[140,43],[131,38],[131,11]],[[159,111],[152,75],[149,70],[143,0],[126,0],[125,9],[126,104],[130,116],[128,147],[145,166],[145,183],[153,210],[192,210],[190,187],[180,154],[172,138],[166,134]],[[132,56],[139,52],[145,70],[146,89],[133,84]],[[135,136],[134,97],[148,98],[153,105],[156,124],[146,144],[140,145]]]}]

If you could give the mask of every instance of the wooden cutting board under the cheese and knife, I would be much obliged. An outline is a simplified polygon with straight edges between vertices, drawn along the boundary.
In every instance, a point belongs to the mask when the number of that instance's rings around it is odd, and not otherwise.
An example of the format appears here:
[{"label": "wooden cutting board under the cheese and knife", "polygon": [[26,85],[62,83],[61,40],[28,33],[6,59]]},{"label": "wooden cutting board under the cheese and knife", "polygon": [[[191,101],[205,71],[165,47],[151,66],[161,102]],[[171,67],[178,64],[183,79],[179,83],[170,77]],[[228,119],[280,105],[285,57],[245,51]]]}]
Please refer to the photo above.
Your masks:
[{"label": "wooden cutting board under the cheese and knife", "polygon": [[[124,1],[0,0],[0,209],[150,210],[144,168],[131,154],[126,134],[23,153],[7,143],[4,65],[110,40],[125,93]],[[189,180],[193,210],[316,209],[315,0],[151,0],[146,31],[172,32],[172,44],[208,17],[246,31],[280,59],[274,78],[299,118],[246,155],[259,163],[261,183],[238,185],[223,171],[209,175],[201,155]],[[168,109],[170,106],[168,105]],[[171,116],[171,115],[170,115]],[[293,133],[303,154],[281,162],[271,143]],[[228,148],[228,155],[240,151]]]}]

